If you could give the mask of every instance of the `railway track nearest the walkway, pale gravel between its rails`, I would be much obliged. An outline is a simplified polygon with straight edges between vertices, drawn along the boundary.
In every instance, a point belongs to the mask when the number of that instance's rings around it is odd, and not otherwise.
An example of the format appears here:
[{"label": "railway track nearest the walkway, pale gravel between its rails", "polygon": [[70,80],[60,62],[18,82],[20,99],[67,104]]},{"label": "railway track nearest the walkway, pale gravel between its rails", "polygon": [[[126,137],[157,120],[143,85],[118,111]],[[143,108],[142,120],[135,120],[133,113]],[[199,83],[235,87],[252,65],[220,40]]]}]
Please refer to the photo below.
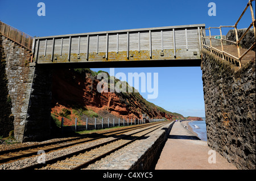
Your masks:
[{"label": "railway track nearest the walkway, pale gravel between its rails", "polygon": [[47,160],[45,163],[36,163],[31,166],[23,167],[21,170],[80,170],[88,165],[106,157],[107,155],[123,148],[143,138],[146,134],[155,131],[162,127],[164,123],[151,124],[147,127],[142,127],[135,133],[122,135],[121,137],[114,138],[114,140],[102,142],[89,148],[85,148],[73,153],[61,155],[60,157]]}]

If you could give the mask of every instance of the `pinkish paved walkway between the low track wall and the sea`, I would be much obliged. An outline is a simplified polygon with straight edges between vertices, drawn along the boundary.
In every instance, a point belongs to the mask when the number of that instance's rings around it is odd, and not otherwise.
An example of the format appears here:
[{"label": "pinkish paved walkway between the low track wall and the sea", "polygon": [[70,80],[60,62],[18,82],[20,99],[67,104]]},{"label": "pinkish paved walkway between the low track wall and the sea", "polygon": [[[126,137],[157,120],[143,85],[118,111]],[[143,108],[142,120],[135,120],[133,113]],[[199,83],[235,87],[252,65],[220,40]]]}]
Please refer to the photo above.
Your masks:
[{"label": "pinkish paved walkway between the low track wall and the sea", "polygon": [[[216,154],[216,163],[212,163],[214,162],[214,153]],[[200,140],[179,122],[174,123],[155,169],[237,170],[232,163],[210,149],[206,141]]]}]

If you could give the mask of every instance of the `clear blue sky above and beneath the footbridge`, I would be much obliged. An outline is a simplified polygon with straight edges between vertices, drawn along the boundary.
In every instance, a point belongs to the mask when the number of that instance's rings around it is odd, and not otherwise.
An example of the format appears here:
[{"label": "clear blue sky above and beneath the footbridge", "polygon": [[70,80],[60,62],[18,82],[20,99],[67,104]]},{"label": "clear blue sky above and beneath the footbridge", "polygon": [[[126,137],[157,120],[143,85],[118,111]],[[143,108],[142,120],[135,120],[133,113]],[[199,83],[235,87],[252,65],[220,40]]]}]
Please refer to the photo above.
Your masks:
[{"label": "clear blue sky above and beneath the footbridge", "polygon": [[[46,16],[38,16],[39,2],[45,3]],[[216,16],[208,15],[210,2],[216,4]],[[247,2],[248,0],[0,0],[0,20],[31,36],[201,23],[208,28],[234,25]],[[255,14],[255,1],[253,7]],[[250,17],[248,9],[238,28],[247,28],[251,23]],[[223,33],[226,34],[228,30],[224,29]],[[217,35],[218,32],[214,34]],[[118,72],[158,73],[158,98],[150,99],[150,102],[183,116],[205,116],[200,67],[115,69],[115,73]],[[142,95],[144,98],[147,96]]]}]

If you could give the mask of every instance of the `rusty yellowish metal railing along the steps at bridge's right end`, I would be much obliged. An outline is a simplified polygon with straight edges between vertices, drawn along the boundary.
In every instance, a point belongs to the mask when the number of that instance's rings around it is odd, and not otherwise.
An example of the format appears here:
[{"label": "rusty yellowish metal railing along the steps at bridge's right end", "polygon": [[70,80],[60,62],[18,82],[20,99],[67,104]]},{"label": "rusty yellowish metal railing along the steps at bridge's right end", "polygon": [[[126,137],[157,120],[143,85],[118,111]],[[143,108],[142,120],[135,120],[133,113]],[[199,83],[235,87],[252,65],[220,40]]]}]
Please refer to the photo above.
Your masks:
[{"label": "rusty yellowish metal railing along the steps at bridge's right end", "polygon": [[[245,9],[243,10],[240,18],[238,18],[237,22],[234,24],[234,26],[220,26],[220,27],[209,27],[209,28],[205,28],[204,30],[209,30],[209,37],[206,37],[206,36],[203,36],[203,30],[201,29],[201,45],[202,45],[202,48],[209,48],[210,49],[210,52],[212,52],[212,50],[216,50],[218,52],[220,52],[222,54],[222,58],[225,59],[225,55],[228,55],[230,57],[233,57],[234,59],[238,60],[239,62],[239,66],[241,67],[242,64],[241,64],[241,59],[251,50],[255,47],[255,18],[254,18],[254,12],[253,12],[253,5],[252,5],[252,2],[255,1],[255,0],[249,0],[249,2],[247,3]],[[237,24],[240,22],[243,14],[245,14],[247,8],[250,7],[250,11],[251,11],[251,19],[252,19],[252,22],[250,24],[250,26],[247,28],[247,30],[242,34],[242,36],[240,38],[238,38],[238,32],[237,32]],[[221,31],[221,28],[224,28],[224,27],[232,27],[234,28],[234,31],[236,33],[236,41],[231,41],[231,40],[226,40],[226,39],[223,39],[222,38],[222,31]],[[248,48],[242,55],[240,53],[240,47],[239,47],[239,43],[240,41],[243,39],[243,37],[246,35],[246,33],[250,30],[250,28],[253,27],[254,29],[254,43],[251,45],[250,48]],[[210,29],[211,28],[217,28],[220,30],[220,39],[216,39],[214,37],[211,37],[211,33],[210,33]],[[205,39],[209,39],[210,40],[210,45],[207,45]],[[221,50],[220,49],[217,49],[216,47],[213,47],[212,46],[212,39],[214,40],[218,40],[221,42]],[[237,47],[237,56],[234,56],[234,54],[230,54],[228,52],[225,52],[224,50],[224,45],[223,45],[223,41],[227,41],[229,43],[233,43],[233,44],[236,44],[236,47]]]}]

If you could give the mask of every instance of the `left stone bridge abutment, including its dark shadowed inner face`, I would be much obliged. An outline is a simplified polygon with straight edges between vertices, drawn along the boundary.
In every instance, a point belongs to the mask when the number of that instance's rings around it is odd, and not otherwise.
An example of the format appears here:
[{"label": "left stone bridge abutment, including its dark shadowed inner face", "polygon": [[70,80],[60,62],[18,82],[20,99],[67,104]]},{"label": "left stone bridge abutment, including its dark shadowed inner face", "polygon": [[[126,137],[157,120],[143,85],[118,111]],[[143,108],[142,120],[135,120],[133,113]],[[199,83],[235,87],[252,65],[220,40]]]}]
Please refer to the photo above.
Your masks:
[{"label": "left stone bridge abutment, including its dark shadowed inner face", "polygon": [[[3,121],[6,128],[0,131],[0,136],[14,129],[14,138],[20,142],[43,140],[50,131],[51,103],[51,70],[29,63],[30,52],[13,41],[1,37],[2,54],[1,90],[7,91],[1,95],[1,110],[7,104],[2,99],[11,100],[11,116],[13,120]],[[4,63],[2,63],[4,62]],[[7,90],[5,90],[7,89]],[[10,114],[8,110],[2,115]],[[11,123],[13,121],[13,123]]]}]

